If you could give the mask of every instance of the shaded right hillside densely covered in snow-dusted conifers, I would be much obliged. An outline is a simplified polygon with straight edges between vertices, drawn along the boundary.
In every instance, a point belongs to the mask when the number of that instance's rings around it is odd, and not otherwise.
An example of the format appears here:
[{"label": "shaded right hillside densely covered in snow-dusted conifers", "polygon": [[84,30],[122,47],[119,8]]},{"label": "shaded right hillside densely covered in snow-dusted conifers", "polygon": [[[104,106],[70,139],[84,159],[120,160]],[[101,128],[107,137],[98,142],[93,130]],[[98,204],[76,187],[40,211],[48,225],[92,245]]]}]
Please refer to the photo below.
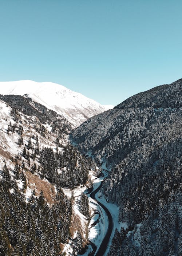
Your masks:
[{"label": "shaded right hillside densely covered in snow-dusted conifers", "polygon": [[109,255],[182,255],[182,79],[88,119],[70,138],[112,172],[102,192],[119,206]]}]

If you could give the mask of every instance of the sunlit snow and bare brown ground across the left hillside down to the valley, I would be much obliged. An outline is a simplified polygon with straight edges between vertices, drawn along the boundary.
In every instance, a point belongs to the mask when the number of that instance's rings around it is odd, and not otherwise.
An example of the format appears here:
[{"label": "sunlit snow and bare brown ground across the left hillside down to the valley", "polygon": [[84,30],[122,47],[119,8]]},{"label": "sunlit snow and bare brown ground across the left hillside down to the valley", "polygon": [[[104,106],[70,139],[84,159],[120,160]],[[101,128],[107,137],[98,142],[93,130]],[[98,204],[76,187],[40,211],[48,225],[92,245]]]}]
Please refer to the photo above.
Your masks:
[{"label": "sunlit snow and bare brown ground across the left hillside down to the valley", "polygon": [[[16,98],[18,97],[16,96]],[[27,105],[28,104],[29,103],[27,103]],[[24,105],[24,108],[27,108],[27,106]],[[56,138],[58,137],[58,134],[57,134],[58,130],[54,129],[55,119],[51,123],[50,123],[50,120],[48,120],[47,123],[41,123],[40,119],[36,115],[25,115],[24,113],[21,113],[18,110],[16,111],[16,114],[17,114],[17,119],[15,119],[15,117],[12,115],[12,107],[10,107],[7,102],[4,102],[3,100],[0,99],[0,130],[1,130],[1,133],[0,133],[0,184],[1,184],[0,191],[2,188],[2,184],[4,182],[3,177],[5,177],[3,167],[4,167],[4,163],[6,163],[9,169],[9,174],[12,180],[12,184],[17,184],[18,191],[21,192],[21,195],[23,196],[22,198],[25,197],[24,199],[27,205],[30,202],[30,198],[32,196],[33,190],[35,190],[34,197],[39,197],[41,190],[43,191],[44,198],[47,201],[48,206],[55,204],[56,202],[55,196],[58,192],[57,190],[58,187],[56,188],[56,185],[54,183],[51,183],[50,181],[47,180],[46,177],[42,176],[43,169],[41,168],[41,164],[39,161],[40,156],[37,155],[36,158],[32,158],[32,155],[35,152],[36,147],[38,147],[39,150],[42,150],[43,148],[44,149],[50,148],[54,152],[58,150],[59,153],[62,153],[64,151],[63,147],[68,144],[67,135],[63,133],[62,137],[59,140],[60,145],[57,145],[55,141],[56,141]],[[58,115],[56,114],[56,116]],[[60,118],[60,120],[62,119]],[[63,122],[64,121],[65,119],[63,119]],[[15,125],[15,130],[12,130],[12,127],[14,125]],[[65,125],[67,124],[65,123]],[[20,134],[18,133],[19,126],[22,127],[21,137],[23,139],[23,145],[18,145],[17,143],[20,138]],[[42,129],[42,127],[44,127],[45,129]],[[61,125],[59,126],[59,128],[60,127]],[[42,133],[41,131],[44,131],[44,132]],[[36,144],[35,138],[37,138],[38,144]],[[32,146],[30,149],[28,149],[27,147],[29,140],[31,140],[31,143],[32,143]],[[25,158],[22,154],[24,151],[24,148],[26,149],[26,152],[29,152],[30,154],[29,164],[28,164],[28,159]],[[73,153],[72,155],[75,157],[75,153]],[[15,165],[16,165],[15,159],[17,159],[17,164],[21,167],[20,168],[21,171],[19,172],[18,177],[16,176],[16,172],[15,172]],[[23,161],[24,161],[24,168],[22,168]],[[36,164],[37,169],[35,173],[32,173],[31,167],[34,164]],[[77,164],[79,165],[79,160],[77,161]],[[40,168],[39,171],[38,171],[38,167]],[[58,169],[58,175],[62,172],[62,169]],[[22,180],[22,175],[20,176],[20,174],[22,173],[24,174],[25,180]],[[9,189],[9,192],[13,194],[13,197],[15,197],[16,190],[12,184],[11,184],[11,188]],[[26,188],[24,188],[24,184],[27,185]],[[87,189],[88,189],[88,185],[87,186],[80,185],[74,190],[69,188],[63,188],[63,192],[66,195],[68,195],[68,197],[71,197],[71,194],[74,193],[74,196],[80,199],[80,195],[82,194],[82,192],[84,192],[84,190],[87,190]],[[88,221],[89,221],[80,212],[79,200],[73,200],[72,205],[73,205],[73,210],[72,210],[71,224],[70,224],[70,230],[72,231],[72,233],[69,236],[70,240],[66,241],[65,244],[62,244],[62,246],[66,249],[67,256],[72,255],[69,251],[71,248],[70,244],[73,246],[74,239],[78,232],[78,227],[79,227],[79,230],[82,231],[83,240],[84,240],[84,243],[86,243],[87,241],[86,233],[87,233],[87,227],[88,227]],[[14,207],[14,205],[12,207]],[[15,227],[15,229],[17,228]],[[0,255],[2,255],[1,251],[3,250],[0,250]]]}]

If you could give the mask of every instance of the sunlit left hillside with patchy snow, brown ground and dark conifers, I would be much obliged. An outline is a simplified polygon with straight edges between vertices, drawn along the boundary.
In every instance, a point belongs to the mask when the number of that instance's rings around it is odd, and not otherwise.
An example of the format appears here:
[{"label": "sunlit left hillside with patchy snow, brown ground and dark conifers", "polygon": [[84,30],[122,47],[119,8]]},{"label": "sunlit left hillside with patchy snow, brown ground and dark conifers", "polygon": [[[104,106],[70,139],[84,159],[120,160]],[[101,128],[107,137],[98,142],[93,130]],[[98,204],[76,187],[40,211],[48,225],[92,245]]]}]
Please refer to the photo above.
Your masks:
[{"label": "sunlit left hillside with patchy snow, brown ground and dark conifers", "polygon": [[[0,255],[63,255],[69,240],[79,252],[85,227],[62,188],[88,183],[95,163],[68,143],[64,117],[29,98],[0,98]],[[83,198],[80,212],[89,219]]]}]

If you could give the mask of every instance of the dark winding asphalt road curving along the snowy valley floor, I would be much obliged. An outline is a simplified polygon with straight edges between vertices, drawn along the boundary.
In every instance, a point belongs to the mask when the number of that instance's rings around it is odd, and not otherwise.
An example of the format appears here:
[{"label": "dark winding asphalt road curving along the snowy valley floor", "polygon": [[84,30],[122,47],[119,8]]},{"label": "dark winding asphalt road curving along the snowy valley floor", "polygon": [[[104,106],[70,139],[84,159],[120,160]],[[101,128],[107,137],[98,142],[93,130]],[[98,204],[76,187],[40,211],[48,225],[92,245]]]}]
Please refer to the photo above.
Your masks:
[{"label": "dark winding asphalt road curving along the snowy valley floor", "polygon": [[112,234],[112,230],[113,230],[113,219],[111,216],[111,213],[109,212],[109,210],[106,208],[106,206],[104,206],[101,202],[99,202],[96,198],[95,198],[95,194],[100,190],[100,188],[102,187],[103,181],[100,183],[100,186],[95,189],[91,194],[90,197],[93,198],[106,212],[107,217],[108,217],[108,228],[107,228],[107,233],[104,236],[104,239],[102,240],[102,243],[100,244],[99,249],[97,250],[97,252],[94,254],[94,256],[103,256],[104,253],[106,252],[111,234]]}]

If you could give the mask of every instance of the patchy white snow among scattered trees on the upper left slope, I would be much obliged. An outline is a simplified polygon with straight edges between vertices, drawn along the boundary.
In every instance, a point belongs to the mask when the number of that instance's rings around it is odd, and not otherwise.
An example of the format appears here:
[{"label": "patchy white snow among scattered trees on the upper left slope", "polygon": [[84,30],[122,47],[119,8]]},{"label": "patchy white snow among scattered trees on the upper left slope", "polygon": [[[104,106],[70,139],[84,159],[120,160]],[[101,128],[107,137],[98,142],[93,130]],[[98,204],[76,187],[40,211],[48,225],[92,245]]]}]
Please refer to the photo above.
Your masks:
[{"label": "patchy white snow among scattered trees on the upper left slope", "polygon": [[[0,100],[0,129],[1,129],[1,140],[0,140],[0,169],[3,169],[4,166],[4,160],[9,168],[9,174],[11,175],[12,180],[14,179],[15,174],[13,173],[13,169],[15,168],[15,162],[11,161],[11,157],[15,158],[17,155],[21,157],[21,154],[24,149],[24,145],[28,143],[29,139],[31,138],[32,145],[35,146],[35,139],[32,138],[32,136],[37,136],[39,141],[39,147],[52,147],[53,150],[56,150],[55,147],[55,139],[56,134],[51,133],[52,127],[48,124],[46,124],[44,127],[46,128],[45,131],[45,138],[40,135],[35,130],[35,123],[37,123],[37,118],[35,116],[27,116],[23,115],[19,112],[19,115],[21,117],[21,120],[15,122],[13,117],[11,116],[11,107],[5,103],[4,101]],[[8,133],[8,125],[16,125],[23,127],[23,142],[24,145],[17,145],[18,139],[20,138],[20,135],[17,133],[17,128],[15,129],[15,132],[9,131]],[[62,139],[63,140],[63,139]],[[62,148],[58,148],[58,150],[62,150]],[[30,153],[32,153],[32,150],[29,150]],[[21,160],[22,161],[22,160]],[[19,161],[19,164],[21,165],[21,161]],[[24,159],[25,167],[28,166],[27,160]],[[36,165],[39,166],[39,162],[35,161]],[[30,158],[30,165],[32,166],[34,164],[34,161]],[[52,185],[47,180],[41,180],[38,176],[38,174],[33,177],[30,172],[26,172],[23,170],[25,176],[27,177],[27,189],[24,193],[26,202],[28,202],[28,199],[31,197],[33,189],[36,190],[36,184],[42,182],[44,185],[47,184],[47,189],[52,189]],[[35,184],[36,182],[36,184]],[[20,190],[23,189],[24,181],[16,180],[17,186]],[[54,191],[54,189],[53,189]],[[13,189],[11,189],[10,193],[13,193]],[[39,194],[39,191],[36,190],[37,194]],[[23,192],[21,192],[23,194]],[[52,192],[50,193],[52,194]]]}]

